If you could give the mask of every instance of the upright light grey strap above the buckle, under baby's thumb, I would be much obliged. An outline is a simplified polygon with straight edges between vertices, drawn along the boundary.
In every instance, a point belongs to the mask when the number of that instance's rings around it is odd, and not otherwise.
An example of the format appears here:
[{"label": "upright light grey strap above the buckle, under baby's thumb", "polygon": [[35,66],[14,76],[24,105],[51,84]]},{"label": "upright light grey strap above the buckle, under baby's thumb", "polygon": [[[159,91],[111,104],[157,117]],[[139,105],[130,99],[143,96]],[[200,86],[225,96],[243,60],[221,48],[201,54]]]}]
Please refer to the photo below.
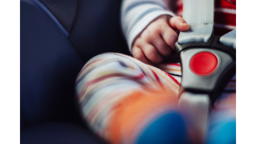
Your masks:
[{"label": "upright light grey strap above the buckle, under baby's thumb", "polygon": [[213,0],[183,0],[183,19],[189,30],[179,34],[179,44],[207,42],[213,31]]}]

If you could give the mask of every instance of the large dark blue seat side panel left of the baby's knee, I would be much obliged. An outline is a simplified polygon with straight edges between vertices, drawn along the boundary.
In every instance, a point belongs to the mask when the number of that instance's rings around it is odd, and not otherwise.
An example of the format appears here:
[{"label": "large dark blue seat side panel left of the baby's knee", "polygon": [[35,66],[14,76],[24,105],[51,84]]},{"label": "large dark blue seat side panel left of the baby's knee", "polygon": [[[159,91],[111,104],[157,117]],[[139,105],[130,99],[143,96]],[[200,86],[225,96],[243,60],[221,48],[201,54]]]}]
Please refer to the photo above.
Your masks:
[{"label": "large dark blue seat side panel left of the baby's knee", "polygon": [[53,21],[33,3],[20,1],[21,128],[79,119],[74,82],[83,65]]}]

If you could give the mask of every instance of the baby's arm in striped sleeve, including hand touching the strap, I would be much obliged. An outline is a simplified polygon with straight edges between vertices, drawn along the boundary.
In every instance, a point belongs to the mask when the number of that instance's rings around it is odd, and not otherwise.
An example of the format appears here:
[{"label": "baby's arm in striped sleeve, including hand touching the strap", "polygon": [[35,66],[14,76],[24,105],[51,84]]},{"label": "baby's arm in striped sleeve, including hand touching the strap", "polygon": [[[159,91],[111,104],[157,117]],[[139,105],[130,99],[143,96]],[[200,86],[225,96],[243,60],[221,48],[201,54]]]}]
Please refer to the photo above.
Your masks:
[{"label": "baby's arm in striped sleeve, including hand touching the strap", "polygon": [[121,22],[130,52],[148,64],[170,54],[178,40],[177,29],[189,29],[185,20],[167,10],[163,0],[124,0]]}]

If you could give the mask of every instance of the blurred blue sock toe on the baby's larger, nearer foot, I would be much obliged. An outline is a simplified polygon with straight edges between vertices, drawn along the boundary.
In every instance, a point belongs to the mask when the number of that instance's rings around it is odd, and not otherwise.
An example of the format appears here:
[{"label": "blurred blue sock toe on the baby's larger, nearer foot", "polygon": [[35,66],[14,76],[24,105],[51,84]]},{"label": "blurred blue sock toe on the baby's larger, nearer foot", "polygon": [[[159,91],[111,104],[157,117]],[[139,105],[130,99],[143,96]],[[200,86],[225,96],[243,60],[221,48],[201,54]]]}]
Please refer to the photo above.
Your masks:
[{"label": "blurred blue sock toe on the baby's larger, nearer foot", "polygon": [[168,113],[149,124],[138,144],[188,144],[185,124],[177,112]]}]

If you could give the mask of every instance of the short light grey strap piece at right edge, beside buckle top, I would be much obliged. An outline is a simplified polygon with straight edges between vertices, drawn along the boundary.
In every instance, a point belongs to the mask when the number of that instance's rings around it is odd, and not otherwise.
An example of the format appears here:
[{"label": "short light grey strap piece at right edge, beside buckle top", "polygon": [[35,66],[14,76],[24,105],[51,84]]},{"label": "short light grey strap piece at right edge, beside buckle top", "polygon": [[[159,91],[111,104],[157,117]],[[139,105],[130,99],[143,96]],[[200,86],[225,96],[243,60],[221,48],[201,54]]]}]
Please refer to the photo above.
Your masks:
[{"label": "short light grey strap piece at right edge, beside buckle top", "polygon": [[228,32],[228,33],[224,34],[222,37],[220,37],[220,43],[236,49],[236,29],[234,29],[231,32]]}]

